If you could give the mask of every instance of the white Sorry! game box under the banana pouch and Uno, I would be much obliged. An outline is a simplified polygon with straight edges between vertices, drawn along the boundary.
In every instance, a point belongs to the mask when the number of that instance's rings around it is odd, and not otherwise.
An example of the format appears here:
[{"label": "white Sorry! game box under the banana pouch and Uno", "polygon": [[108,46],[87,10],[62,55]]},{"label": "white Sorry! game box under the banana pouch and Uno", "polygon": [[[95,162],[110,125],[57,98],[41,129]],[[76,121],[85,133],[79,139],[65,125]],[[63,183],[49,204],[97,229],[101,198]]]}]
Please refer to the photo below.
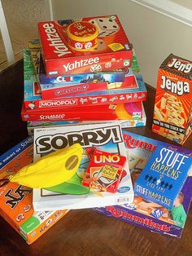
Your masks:
[{"label": "white Sorry! game box under the banana pouch and Uno", "polygon": [[93,149],[125,156],[120,124],[60,126],[34,130],[34,161],[50,152],[80,143],[84,149],[81,164],[72,179],[58,186],[33,190],[35,210],[83,209],[95,205],[120,205],[133,202],[133,187],[128,163],[125,163],[116,193],[95,192],[82,186],[89,165],[89,152]]}]

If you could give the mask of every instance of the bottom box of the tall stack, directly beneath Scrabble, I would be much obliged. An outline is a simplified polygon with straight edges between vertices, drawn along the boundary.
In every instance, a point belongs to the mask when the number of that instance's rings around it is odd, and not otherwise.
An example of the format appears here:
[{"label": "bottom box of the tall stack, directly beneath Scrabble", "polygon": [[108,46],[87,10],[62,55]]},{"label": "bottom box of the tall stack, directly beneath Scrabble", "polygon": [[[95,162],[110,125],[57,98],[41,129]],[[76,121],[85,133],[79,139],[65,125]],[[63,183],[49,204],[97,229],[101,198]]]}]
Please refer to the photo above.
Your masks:
[{"label": "bottom box of the tall stack, directly beneath Scrabble", "polygon": [[[27,129],[28,135],[33,135],[34,129],[43,128],[45,126],[75,126],[75,125],[90,125],[95,123],[105,123],[111,122],[114,123],[116,121],[106,121],[106,120],[98,120],[98,121],[28,121]],[[122,128],[129,128],[129,127],[141,127],[146,126],[146,113],[142,105],[142,118],[132,117],[132,119],[127,120],[119,120],[120,126]]]}]

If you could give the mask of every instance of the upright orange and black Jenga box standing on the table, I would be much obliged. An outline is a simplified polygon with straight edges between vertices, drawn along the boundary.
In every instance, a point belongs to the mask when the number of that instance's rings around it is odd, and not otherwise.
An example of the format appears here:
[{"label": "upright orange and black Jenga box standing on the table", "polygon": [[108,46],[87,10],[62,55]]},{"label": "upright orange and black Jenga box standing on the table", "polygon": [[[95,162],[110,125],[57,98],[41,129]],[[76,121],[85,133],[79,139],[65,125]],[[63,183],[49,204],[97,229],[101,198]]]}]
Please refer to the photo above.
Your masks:
[{"label": "upright orange and black Jenga box standing on the table", "polygon": [[192,131],[192,62],[168,55],[158,73],[152,131],[183,144]]}]

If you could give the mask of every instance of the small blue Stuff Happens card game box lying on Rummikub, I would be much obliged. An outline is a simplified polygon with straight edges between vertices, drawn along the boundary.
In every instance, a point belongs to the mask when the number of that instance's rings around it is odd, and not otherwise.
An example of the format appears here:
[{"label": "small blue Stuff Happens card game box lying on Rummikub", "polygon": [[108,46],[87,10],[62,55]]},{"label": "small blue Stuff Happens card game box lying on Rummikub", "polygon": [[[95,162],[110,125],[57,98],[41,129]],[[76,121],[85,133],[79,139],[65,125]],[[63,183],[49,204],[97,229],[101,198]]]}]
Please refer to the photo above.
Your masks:
[{"label": "small blue Stuff Happens card game box lying on Rummikub", "polygon": [[137,196],[172,209],[192,168],[192,157],[158,146],[135,182]]}]

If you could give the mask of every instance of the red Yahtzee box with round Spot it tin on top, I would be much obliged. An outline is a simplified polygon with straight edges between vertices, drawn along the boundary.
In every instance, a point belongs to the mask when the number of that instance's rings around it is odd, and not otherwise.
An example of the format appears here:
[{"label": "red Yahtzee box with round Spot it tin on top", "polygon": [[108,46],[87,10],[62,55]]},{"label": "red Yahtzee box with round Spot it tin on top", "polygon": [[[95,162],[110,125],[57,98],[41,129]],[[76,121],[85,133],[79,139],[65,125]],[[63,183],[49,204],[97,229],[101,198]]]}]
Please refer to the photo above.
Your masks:
[{"label": "red Yahtzee box with round Spot it tin on top", "polygon": [[46,76],[130,67],[132,46],[117,15],[38,24]]}]

